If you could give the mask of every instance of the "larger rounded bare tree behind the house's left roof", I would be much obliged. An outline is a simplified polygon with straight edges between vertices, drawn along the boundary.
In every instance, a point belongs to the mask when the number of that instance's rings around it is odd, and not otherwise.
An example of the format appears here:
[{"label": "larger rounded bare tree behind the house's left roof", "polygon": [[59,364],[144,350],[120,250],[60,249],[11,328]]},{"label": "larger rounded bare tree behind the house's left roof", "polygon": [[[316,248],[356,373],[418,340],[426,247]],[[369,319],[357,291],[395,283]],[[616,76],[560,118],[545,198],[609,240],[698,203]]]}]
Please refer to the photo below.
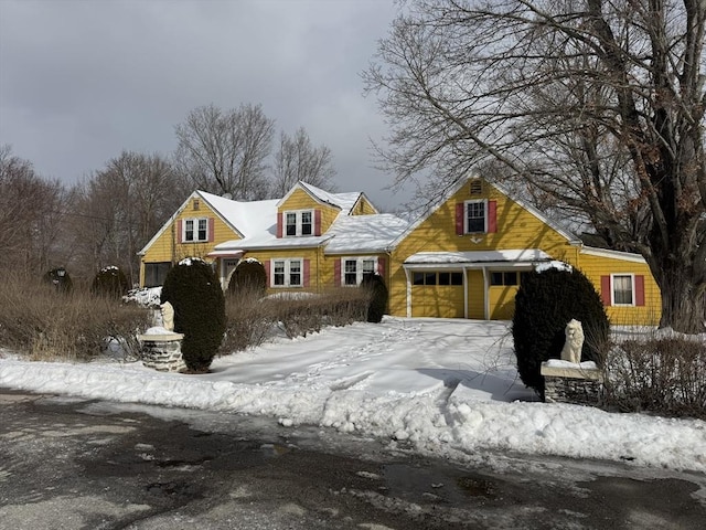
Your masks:
[{"label": "larger rounded bare tree behind the house's left roof", "polygon": [[264,199],[274,130],[274,120],[260,105],[225,112],[214,105],[197,107],[175,128],[175,159],[203,191],[229,193],[238,200]]}]

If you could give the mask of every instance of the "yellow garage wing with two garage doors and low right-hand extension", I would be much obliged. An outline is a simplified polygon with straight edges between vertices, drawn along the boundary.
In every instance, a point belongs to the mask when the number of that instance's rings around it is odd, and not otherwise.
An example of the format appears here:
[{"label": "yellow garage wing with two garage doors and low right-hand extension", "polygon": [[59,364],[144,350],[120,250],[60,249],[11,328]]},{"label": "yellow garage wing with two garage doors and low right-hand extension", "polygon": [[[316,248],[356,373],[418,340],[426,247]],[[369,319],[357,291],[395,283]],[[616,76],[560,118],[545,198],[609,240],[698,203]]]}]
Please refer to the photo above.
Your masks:
[{"label": "yellow garage wing with two garage doors and low right-hand extension", "polygon": [[596,286],[612,324],[657,324],[660,290],[635,254],[587,247],[498,184],[460,182],[394,243],[389,312],[510,319],[523,273],[569,264]]}]

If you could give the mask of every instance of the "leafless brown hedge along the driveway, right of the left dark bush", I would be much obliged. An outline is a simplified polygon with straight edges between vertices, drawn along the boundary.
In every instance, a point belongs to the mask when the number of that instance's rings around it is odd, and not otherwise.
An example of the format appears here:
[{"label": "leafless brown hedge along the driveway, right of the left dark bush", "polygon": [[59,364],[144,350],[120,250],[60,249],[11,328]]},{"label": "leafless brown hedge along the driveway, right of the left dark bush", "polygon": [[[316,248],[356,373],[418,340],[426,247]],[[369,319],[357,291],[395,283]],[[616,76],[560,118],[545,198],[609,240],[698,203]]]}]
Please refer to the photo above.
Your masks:
[{"label": "leafless brown hedge along the driveway, right of the left dark bush", "polygon": [[306,337],[324,326],[365,320],[368,293],[336,288],[321,295],[282,293],[260,298],[256,290],[226,294],[224,354],[255,348],[280,329],[289,338]]}]

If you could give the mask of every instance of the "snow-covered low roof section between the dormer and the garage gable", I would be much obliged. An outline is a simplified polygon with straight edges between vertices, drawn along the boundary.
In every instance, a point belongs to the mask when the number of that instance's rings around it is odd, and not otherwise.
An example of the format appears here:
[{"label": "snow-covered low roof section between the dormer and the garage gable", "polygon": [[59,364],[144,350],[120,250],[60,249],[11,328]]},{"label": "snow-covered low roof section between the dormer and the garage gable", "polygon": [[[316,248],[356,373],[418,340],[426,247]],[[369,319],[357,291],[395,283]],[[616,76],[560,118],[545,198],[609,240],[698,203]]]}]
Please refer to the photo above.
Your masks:
[{"label": "snow-covered low roof section between the dormer and the garage gable", "polygon": [[325,254],[387,251],[409,223],[389,213],[339,215],[329,234]]}]

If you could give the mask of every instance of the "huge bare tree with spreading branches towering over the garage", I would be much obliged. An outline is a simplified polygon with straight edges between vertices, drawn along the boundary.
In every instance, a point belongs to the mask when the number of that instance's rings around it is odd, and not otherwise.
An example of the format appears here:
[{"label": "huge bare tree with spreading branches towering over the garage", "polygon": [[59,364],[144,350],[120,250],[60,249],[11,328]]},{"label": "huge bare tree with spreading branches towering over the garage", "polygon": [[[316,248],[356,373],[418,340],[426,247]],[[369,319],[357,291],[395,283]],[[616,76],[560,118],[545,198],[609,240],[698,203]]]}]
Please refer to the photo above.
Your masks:
[{"label": "huge bare tree with spreading branches towering over the garage", "polygon": [[486,160],[642,254],[662,326],[706,320],[703,0],[411,0],[365,72],[397,184]]}]

